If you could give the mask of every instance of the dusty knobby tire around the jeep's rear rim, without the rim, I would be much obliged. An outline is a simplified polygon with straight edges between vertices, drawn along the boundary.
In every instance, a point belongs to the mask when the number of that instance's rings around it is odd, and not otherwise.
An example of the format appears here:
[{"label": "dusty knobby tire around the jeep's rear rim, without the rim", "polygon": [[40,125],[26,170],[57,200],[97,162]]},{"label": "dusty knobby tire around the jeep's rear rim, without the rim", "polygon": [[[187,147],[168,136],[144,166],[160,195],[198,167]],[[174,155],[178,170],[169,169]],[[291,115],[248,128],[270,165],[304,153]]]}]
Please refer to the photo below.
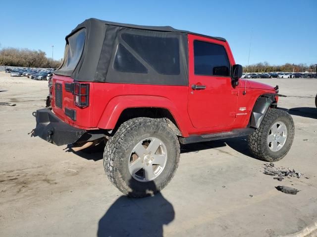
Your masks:
[{"label": "dusty knobby tire around the jeep's rear rim, without the rim", "polygon": [[[129,162],[133,157],[131,152],[140,141],[150,137],[158,138],[164,144],[167,158],[162,171],[154,180],[140,182],[129,170]],[[179,157],[178,138],[165,122],[155,118],[133,118],[122,123],[107,141],[104,168],[108,179],[123,194],[129,197],[146,197],[158,193],[169,183],[178,167]],[[141,157],[137,156],[137,159]],[[145,172],[141,168],[142,171]]]}]

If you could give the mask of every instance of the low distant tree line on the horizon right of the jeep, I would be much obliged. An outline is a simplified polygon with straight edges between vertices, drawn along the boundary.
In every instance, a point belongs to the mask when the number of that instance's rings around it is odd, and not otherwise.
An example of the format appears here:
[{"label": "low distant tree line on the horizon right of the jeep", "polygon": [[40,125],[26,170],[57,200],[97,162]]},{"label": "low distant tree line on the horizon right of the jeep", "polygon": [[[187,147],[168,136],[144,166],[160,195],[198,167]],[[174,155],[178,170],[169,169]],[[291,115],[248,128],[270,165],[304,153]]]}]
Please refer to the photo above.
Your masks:
[{"label": "low distant tree line on the horizon right of the jeep", "polygon": [[285,63],[283,65],[269,65],[268,62],[252,64],[249,66],[243,67],[244,73],[271,73],[271,72],[295,72],[295,73],[304,73],[316,72],[316,64],[291,64]]}]

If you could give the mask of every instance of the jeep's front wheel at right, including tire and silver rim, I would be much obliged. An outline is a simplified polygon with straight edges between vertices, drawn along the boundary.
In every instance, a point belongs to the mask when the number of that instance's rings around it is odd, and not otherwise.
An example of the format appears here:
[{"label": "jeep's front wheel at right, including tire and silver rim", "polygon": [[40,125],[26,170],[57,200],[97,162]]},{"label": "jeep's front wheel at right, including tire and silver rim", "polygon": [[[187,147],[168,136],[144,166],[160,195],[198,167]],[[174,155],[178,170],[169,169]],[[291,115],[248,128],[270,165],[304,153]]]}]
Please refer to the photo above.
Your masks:
[{"label": "jeep's front wheel at right, including tire and silver rim", "polygon": [[287,112],[268,109],[260,127],[249,136],[249,149],[264,161],[280,160],[290,150],[294,133],[294,121]]}]

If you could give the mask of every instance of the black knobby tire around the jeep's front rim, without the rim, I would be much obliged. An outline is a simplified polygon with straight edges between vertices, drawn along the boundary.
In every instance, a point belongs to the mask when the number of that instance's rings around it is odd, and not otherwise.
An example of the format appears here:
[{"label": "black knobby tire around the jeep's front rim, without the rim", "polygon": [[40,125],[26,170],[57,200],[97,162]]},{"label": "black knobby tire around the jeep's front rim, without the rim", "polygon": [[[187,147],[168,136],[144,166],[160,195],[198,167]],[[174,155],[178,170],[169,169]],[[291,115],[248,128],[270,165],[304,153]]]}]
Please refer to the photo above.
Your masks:
[{"label": "black knobby tire around the jeep's front rim, without the rim", "polygon": [[[279,122],[286,126],[286,140],[279,150],[273,151],[270,149],[270,146],[272,145],[268,142],[268,136],[271,135],[270,132],[272,133],[272,126]],[[268,109],[260,127],[249,135],[249,149],[256,158],[264,161],[274,162],[280,160],[285,157],[290,150],[294,139],[294,133],[295,128],[293,118],[286,111]]]}]

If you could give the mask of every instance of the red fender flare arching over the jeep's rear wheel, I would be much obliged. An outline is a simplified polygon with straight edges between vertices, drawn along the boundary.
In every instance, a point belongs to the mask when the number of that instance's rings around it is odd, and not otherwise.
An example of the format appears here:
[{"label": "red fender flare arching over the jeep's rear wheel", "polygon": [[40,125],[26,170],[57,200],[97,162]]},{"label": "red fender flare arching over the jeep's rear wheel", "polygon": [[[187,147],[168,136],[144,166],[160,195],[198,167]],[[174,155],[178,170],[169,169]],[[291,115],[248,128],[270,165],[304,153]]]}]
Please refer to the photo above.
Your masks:
[{"label": "red fender flare arching over the jeep's rear wheel", "polygon": [[162,108],[167,109],[173,116],[177,127],[182,136],[188,136],[185,125],[182,123],[181,116],[176,106],[167,98],[161,96],[148,95],[122,95],[112,98],[98,122],[97,127],[102,129],[113,129],[125,109],[129,108]]}]

